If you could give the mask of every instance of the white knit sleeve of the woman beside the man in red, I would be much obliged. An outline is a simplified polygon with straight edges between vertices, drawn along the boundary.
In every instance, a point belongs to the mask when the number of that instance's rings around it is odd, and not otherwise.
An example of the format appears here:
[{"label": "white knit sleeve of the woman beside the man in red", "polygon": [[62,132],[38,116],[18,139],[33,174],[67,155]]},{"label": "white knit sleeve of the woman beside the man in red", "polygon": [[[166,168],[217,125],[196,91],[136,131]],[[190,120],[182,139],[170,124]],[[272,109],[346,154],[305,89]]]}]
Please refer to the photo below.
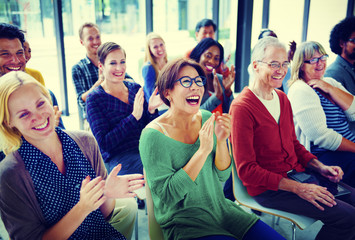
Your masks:
[{"label": "white knit sleeve of the woman beside the man in red", "polygon": [[318,95],[303,81],[296,81],[289,89],[295,124],[309,141],[321,148],[335,151],[341,144],[342,136],[327,127],[326,116]]}]

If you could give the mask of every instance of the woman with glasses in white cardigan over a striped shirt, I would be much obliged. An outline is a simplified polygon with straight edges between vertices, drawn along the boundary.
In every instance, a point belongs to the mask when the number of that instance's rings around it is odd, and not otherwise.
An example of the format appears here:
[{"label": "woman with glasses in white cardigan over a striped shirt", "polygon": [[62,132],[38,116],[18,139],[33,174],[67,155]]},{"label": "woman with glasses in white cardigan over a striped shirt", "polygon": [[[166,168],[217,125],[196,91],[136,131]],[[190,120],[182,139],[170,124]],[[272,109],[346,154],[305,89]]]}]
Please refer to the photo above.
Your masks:
[{"label": "woman with glasses in white cardigan over a striped shirt", "polygon": [[328,55],[318,42],[302,43],[293,59],[288,98],[299,141],[327,165],[344,170],[343,181],[355,187],[355,100],[333,78],[323,77]]}]

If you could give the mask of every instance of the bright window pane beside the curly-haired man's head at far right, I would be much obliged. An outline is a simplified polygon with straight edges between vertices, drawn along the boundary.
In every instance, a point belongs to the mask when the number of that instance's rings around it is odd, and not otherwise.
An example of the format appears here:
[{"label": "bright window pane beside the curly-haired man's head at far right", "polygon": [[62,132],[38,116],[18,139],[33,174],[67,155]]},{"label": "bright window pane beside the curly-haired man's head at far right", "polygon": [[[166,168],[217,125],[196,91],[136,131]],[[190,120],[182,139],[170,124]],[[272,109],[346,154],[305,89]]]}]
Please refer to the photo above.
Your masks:
[{"label": "bright window pane beside the curly-haired man's head at far right", "polygon": [[327,4],[324,4],[323,0],[311,1],[307,41],[317,41],[322,44],[329,55],[328,65],[336,58],[329,47],[330,31],[346,17],[347,2],[347,0],[337,0],[327,1]]}]

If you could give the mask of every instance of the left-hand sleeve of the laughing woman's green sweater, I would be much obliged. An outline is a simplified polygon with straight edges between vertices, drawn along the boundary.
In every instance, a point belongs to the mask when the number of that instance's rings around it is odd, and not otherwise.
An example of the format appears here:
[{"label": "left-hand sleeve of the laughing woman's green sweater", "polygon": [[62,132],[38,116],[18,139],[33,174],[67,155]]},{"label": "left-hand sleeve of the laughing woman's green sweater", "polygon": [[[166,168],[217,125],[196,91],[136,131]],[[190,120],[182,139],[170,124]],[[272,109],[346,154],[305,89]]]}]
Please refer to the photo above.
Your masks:
[{"label": "left-hand sleeve of the laughing woman's green sweater", "polygon": [[139,152],[153,202],[171,206],[183,200],[185,195],[194,191],[197,186],[182,167],[173,166],[169,155],[179,154],[179,150],[176,150],[177,153],[166,151],[161,147],[167,144],[165,140],[165,136],[159,131],[145,128],[139,141]]}]

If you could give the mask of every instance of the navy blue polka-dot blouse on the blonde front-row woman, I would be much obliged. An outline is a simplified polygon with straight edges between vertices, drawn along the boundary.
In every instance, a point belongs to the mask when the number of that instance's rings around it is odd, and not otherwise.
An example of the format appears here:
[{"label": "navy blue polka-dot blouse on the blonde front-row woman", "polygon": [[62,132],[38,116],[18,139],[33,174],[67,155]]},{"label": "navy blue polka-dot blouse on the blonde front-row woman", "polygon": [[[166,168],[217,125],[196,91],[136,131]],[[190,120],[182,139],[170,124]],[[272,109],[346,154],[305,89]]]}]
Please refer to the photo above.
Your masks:
[{"label": "navy blue polka-dot blouse on the blonde front-row woman", "polygon": [[[76,142],[61,129],[56,132],[62,142],[65,175],[51,159],[25,139],[18,152],[33,180],[37,200],[47,227],[66,215],[80,200],[81,182],[96,173]],[[105,221],[100,209],[91,212],[69,239],[126,239]]]}]

